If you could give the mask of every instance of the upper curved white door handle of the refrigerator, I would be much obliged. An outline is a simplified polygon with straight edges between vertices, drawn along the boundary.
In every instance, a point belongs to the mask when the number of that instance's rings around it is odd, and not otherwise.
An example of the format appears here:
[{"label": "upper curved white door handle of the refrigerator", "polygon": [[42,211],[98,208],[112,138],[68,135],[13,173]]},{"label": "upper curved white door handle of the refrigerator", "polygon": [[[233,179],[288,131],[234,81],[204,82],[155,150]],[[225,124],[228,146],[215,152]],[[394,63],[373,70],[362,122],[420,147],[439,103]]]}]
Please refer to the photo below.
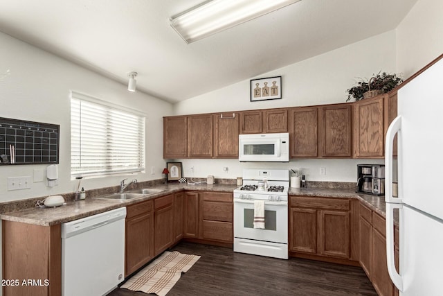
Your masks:
[{"label": "upper curved white door handle of the refrigerator", "polygon": [[[385,201],[386,202],[395,202],[395,203],[403,203],[403,200],[400,198],[401,195],[399,195],[398,198],[394,198],[392,196],[392,151],[393,151],[393,144],[394,144],[394,137],[397,132],[401,131],[401,116],[397,116],[392,123],[389,125],[388,131],[386,132],[386,144],[385,144]],[[400,146],[400,134],[398,137],[398,145]],[[400,149],[400,147],[399,147]],[[399,164],[400,166],[400,164]],[[400,174],[399,170],[399,174]],[[399,175],[399,186],[401,186],[401,180]],[[399,193],[400,193],[399,188]]]}]

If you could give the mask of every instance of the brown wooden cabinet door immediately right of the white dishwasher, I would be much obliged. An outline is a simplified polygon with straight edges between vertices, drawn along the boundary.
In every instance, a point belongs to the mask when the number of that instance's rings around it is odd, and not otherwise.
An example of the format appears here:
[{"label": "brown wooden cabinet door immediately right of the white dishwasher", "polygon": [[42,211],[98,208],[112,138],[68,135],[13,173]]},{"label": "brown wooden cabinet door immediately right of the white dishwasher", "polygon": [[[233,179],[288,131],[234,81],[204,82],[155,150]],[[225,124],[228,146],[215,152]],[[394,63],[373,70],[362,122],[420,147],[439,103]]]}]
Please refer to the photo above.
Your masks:
[{"label": "brown wooden cabinet door immediately right of the white dishwasher", "polygon": [[154,258],[153,212],[126,220],[125,277]]}]

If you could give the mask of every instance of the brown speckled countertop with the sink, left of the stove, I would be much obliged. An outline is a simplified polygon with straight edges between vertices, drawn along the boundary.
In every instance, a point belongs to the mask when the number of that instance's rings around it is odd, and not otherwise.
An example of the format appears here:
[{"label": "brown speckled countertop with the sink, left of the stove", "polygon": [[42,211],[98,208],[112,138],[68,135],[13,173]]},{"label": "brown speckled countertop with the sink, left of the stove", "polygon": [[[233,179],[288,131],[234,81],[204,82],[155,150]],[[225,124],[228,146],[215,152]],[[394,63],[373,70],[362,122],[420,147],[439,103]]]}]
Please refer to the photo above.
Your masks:
[{"label": "brown speckled countertop with the sink, left of the stove", "polygon": [[[145,200],[158,198],[183,189],[195,191],[226,191],[232,192],[237,186],[235,184],[161,184],[152,188],[163,189],[159,193],[145,195],[141,198],[131,200],[105,200],[99,198],[86,198],[76,202],[66,202],[61,207],[55,208],[31,208],[19,211],[10,211],[0,215],[2,220],[10,220],[34,225],[51,226],[60,223],[66,223],[87,216],[110,211],[118,207],[127,207],[130,204],[136,204]],[[126,191],[125,191],[126,192]]]}]

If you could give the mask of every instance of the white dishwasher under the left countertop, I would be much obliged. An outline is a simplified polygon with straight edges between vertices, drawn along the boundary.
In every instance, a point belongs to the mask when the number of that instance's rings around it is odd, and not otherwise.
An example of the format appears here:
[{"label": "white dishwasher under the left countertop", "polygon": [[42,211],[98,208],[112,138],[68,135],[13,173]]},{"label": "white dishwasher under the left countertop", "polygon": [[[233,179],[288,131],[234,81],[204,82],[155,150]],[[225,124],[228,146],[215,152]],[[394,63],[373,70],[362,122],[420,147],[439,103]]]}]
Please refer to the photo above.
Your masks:
[{"label": "white dishwasher under the left countertop", "polygon": [[62,224],[62,295],[98,296],[125,279],[126,208]]}]

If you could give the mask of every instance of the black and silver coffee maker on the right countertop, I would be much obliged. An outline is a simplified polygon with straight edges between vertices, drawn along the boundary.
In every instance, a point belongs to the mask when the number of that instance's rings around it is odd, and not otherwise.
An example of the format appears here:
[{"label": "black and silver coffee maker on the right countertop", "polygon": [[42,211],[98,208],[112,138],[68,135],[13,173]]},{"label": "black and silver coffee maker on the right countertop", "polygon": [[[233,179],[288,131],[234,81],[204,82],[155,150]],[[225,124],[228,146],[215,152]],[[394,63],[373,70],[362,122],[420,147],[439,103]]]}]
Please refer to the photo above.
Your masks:
[{"label": "black and silver coffee maker on the right countertop", "polygon": [[385,166],[357,164],[356,192],[383,195],[385,193]]}]

